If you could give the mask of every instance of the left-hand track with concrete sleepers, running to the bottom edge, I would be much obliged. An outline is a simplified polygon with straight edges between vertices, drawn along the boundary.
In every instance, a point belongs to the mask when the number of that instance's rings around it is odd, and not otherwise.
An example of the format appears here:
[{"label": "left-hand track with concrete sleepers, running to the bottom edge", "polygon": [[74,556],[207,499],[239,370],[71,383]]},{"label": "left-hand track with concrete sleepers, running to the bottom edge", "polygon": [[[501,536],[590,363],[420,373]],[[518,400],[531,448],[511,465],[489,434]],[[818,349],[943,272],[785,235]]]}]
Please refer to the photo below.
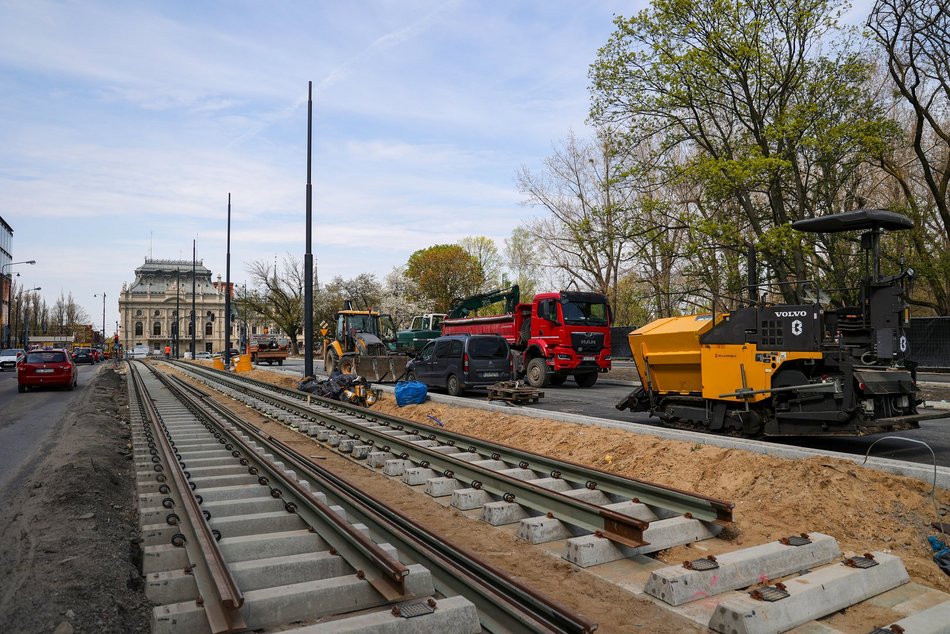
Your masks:
[{"label": "left-hand track with concrete sleepers, running to the bottom edge", "polygon": [[128,376],[153,632],[596,629],[201,390]]}]

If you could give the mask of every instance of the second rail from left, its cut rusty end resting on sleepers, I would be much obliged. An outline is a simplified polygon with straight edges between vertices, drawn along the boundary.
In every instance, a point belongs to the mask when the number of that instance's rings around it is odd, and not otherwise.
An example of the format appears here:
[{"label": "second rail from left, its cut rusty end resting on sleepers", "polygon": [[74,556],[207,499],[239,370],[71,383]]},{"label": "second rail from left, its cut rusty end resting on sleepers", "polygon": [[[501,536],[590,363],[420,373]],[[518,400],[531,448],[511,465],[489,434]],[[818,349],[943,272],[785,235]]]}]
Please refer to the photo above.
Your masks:
[{"label": "second rail from left, its cut rusty end resting on sleepers", "polygon": [[[154,368],[152,371],[155,372]],[[193,388],[186,390],[182,386],[187,384],[180,380],[171,381],[165,375],[155,372],[156,376],[166,388],[194,413],[203,418],[209,427],[216,427],[213,432],[219,442],[225,447],[231,447],[229,451],[240,454],[234,447],[240,447],[244,451],[241,456],[243,462],[250,464],[256,463],[257,466],[248,466],[248,471],[252,475],[258,475],[261,470],[265,471],[270,477],[260,476],[258,482],[264,486],[269,486],[271,495],[276,498],[284,498],[285,492],[281,489],[271,486],[271,479],[279,482],[281,486],[286,487],[293,492],[296,499],[301,502],[300,505],[288,503],[285,501],[284,508],[288,512],[293,512],[320,534],[332,548],[334,548],[344,560],[346,560],[357,571],[357,576],[365,578],[366,581],[376,589],[387,601],[406,600],[412,598],[407,594],[405,579],[409,574],[409,568],[398,559],[383,550],[376,542],[367,537],[362,531],[354,527],[345,519],[335,513],[328,504],[317,498],[311,491],[302,486],[296,479],[287,477],[274,461],[257,452],[253,445],[249,444],[239,435],[232,433],[227,427],[222,426],[220,422],[215,421],[205,410],[209,401],[198,401],[189,394]],[[190,386],[187,386],[190,388]],[[214,404],[217,406],[217,404]],[[215,413],[223,416],[229,422],[233,422],[233,416],[226,414],[227,410],[214,407]],[[227,436],[225,440],[222,436]],[[235,456],[237,459],[238,456]],[[247,466],[247,465],[246,465]],[[323,530],[320,530],[320,529]],[[381,574],[380,574],[381,573]]]}]

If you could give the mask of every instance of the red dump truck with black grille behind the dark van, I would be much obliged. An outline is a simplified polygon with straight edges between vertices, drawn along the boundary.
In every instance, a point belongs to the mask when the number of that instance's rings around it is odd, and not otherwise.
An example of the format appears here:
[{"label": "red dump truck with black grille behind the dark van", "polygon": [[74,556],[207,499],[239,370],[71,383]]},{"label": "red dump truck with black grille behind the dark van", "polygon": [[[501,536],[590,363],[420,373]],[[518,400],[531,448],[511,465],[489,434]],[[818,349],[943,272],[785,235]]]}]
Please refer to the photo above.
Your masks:
[{"label": "red dump truck with black grille behind the dark van", "polygon": [[[517,285],[456,302],[442,322],[443,335],[501,335],[514,353],[515,376],[532,387],[561,385],[573,376],[591,387],[610,370],[610,306],[600,293],[539,293],[520,303]],[[501,315],[469,316],[505,302]]]}]

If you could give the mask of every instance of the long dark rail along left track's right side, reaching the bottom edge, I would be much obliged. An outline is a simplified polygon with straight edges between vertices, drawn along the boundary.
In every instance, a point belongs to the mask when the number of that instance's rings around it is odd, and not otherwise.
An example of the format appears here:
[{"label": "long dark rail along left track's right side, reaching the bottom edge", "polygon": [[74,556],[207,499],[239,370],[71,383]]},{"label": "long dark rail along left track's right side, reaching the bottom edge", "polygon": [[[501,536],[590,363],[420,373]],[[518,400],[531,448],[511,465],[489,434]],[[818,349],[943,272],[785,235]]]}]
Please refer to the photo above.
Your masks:
[{"label": "long dark rail along left track's right side, reaching the bottom edge", "polygon": [[[362,523],[375,527],[396,549],[424,565],[451,592],[472,601],[483,626],[492,632],[594,632],[597,624],[515,580],[507,573],[419,526],[397,509],[364,493],[358,486],[315,464],[287,444],[261,431],[198,388],[173,378],[202,404],[236,429],[255,438],[286,464],[307,476],[321,491]],[[451,592],[449,592],[451,591]]]}]

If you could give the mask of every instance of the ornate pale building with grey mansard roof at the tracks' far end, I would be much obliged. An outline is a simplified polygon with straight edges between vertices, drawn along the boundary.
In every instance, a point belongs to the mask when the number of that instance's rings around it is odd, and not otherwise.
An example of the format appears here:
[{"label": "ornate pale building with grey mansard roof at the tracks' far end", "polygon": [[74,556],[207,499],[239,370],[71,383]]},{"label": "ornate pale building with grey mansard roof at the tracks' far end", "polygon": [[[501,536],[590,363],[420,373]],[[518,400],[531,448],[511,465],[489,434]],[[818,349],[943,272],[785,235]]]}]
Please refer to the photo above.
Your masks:
[{"label": "ornate pale building with grey mansard roof at the tracks' far end", "polygon": [[[225,286],[220,275],[217,282],[212,281],[211,271],[199,261],[195,266],[192,293],[191,260],[146,258],[145,264],[135,269],[135,280],[123,284],[119,294],[122,346],[131,350],[136,345],[145,345],[155,354],[163,354],[165,346],[169,346],[172,354],[177,352],[177,356],[184,356],[191,350],[194,300],[195,352],[224,350]],[[177,350],[176,329],[179,333]],[[232,346],[236,342],[235,332],[232,308]]]}]

